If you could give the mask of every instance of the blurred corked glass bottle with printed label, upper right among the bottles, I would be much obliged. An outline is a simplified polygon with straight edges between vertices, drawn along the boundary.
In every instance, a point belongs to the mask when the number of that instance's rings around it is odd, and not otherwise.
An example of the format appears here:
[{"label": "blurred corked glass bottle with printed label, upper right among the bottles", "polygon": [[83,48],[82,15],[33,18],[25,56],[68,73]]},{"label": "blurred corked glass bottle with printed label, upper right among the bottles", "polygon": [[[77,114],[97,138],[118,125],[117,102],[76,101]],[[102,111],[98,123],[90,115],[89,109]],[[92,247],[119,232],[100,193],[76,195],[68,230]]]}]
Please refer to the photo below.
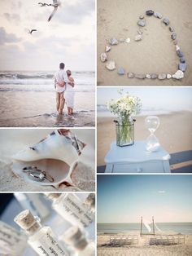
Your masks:
[{"label": "blurred corked glass bottle with printed label, upper right among the bottles", "polygon": [[54,210],[63,218],[77,225],[88,227],[93,222],[93,214],[85,207],[81,199],[73,193],[49,193],[48,198],[53,201]]}]

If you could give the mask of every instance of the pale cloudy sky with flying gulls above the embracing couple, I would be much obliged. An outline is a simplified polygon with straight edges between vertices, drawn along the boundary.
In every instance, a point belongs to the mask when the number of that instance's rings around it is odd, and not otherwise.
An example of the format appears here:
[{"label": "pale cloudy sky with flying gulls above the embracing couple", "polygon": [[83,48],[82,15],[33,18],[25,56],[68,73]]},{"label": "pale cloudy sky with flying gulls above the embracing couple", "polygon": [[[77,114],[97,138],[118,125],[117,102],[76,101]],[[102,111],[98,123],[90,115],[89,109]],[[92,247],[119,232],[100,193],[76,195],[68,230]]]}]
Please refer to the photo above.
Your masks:
[{"label": "pale cloudy sky with flying gulls above the embracing couple", "polygon": [[50,22],[53,7],[38,2],[0,0],[0,70],[55,70],[64,62],[74,71],[94,71],[94,0],[61,0]]}]

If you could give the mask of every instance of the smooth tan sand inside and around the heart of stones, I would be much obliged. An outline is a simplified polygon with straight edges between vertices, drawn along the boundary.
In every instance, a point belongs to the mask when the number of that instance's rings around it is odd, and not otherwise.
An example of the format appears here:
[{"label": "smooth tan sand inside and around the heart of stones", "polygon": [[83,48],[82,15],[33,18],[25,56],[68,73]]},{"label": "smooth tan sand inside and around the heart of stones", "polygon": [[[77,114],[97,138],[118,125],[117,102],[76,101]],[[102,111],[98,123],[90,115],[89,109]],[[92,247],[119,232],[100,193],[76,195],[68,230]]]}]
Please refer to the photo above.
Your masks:
[{"label": "smooth tan sand inside and around the heart of stones", "polygon": [[[152,9],[168,17],[176,30],[178,45],[185,55],[187,71],[181,81],[173,79],[130,79],[117,75],[117,68],[126,73],[175,73],[178,66],[175,45],[168,27],[155,17],[146,18],[143,40],[134,42],[137,20]],[[98,86],[191,86],[192,85],[192,2],[191,0],[98,0]],[[131,38],[131,42],[111,46],[108,60],[116,62],[116,70],[108,71],[100,55],[110,38]]]}]

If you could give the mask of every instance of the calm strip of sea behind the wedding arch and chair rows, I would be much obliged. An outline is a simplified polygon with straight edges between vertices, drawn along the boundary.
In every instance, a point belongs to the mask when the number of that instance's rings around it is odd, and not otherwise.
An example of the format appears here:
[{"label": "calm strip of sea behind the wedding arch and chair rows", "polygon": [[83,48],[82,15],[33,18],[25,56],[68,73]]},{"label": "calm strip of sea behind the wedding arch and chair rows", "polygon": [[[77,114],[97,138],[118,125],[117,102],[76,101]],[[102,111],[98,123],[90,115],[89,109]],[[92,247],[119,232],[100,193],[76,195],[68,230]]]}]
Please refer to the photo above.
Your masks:
[{"label": "calm strip of sea behind the wedding arch and chair rows", "polygon": [[[192,223],[156,223],[162,232],[192,234]],[[98,233],[139,232],[140,223],[98,223]],[[147,232],[145,227],[143,231]]]}]

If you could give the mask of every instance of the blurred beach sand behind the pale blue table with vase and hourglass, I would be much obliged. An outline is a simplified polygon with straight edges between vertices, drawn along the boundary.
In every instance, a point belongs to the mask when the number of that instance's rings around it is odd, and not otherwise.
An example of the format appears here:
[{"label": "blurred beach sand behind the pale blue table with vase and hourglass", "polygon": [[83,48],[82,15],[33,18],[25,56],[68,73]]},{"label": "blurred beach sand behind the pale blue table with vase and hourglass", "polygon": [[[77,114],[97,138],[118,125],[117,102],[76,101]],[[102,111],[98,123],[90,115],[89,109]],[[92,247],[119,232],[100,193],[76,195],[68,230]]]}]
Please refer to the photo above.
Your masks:
[{"label": "blurred beach sand behind the pale blue table with vase and hourglass", "polygon": [[[159,115],[160,126],[155,132],[161,146],[169,153],[192,150],[192,113],[177,112]],[[116,140],[115,117],[98,118],[98,166],[105,165],[110,144]],[[136,117],[135,140],[146,139],[145,117]],[[192,156],[191,156],[192,158]],[[171,166],[174,169],[174,166]]]}]

